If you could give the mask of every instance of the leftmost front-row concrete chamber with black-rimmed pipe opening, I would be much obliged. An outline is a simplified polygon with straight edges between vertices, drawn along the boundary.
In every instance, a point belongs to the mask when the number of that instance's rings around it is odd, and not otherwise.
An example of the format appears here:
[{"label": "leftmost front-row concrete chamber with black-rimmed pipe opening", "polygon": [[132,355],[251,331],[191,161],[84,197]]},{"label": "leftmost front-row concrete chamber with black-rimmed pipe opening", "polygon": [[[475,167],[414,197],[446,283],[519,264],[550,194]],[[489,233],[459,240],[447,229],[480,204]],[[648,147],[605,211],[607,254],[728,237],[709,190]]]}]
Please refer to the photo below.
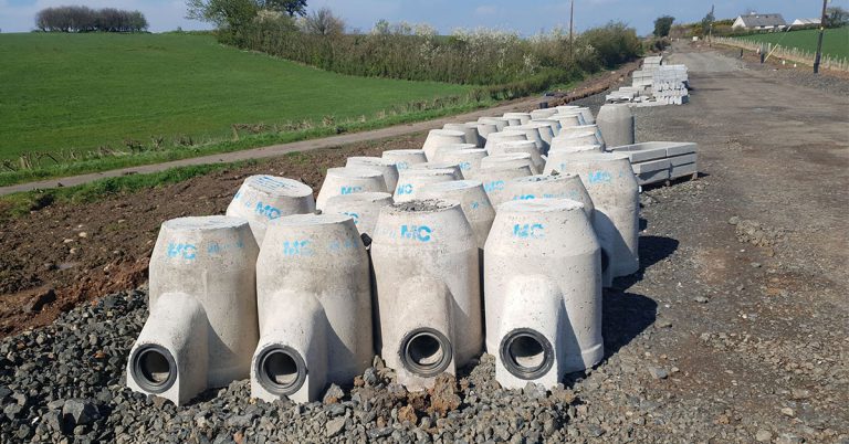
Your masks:
[{"label": "leftmost front-row concrete chamber with black-rimmed pipe opening", "polygon": [[181,405],[248,376],[259,337],[258,254],[243,219],[163,223],[150,256],[150,315],[127,362],[132,390]]}]

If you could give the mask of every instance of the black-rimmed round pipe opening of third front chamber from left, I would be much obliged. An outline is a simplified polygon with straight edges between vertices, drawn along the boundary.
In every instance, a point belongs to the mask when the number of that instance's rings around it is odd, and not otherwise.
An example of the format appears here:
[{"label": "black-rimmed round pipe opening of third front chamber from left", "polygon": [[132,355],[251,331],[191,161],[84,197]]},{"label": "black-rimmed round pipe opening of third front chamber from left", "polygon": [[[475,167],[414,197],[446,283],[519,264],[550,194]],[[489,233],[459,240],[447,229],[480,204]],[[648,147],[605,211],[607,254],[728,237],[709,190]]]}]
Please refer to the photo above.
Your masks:
[{"label": "black-rimmed round pipe opening of third front chamber from left", "polygon": [[432,328],[419,328],[401,340],[401,363],[420,377],[436,377],[451,363],[451,342]]}]

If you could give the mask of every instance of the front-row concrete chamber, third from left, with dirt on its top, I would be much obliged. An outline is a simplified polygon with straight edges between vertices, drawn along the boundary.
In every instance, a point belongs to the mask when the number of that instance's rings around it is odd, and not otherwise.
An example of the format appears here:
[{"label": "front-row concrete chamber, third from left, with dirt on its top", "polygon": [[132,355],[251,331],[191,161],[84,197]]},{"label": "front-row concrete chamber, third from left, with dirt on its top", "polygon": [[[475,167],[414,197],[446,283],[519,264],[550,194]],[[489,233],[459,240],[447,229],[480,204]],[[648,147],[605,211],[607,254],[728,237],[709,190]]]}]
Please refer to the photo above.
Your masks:
[{"label": "front-row concrete chamber, third from left, with dirt on its top", "polygon": [[478,245],[459,203],[417,200],[385,208],[371,258],[380,356],[399,383],[423,390],[480,356]]}]

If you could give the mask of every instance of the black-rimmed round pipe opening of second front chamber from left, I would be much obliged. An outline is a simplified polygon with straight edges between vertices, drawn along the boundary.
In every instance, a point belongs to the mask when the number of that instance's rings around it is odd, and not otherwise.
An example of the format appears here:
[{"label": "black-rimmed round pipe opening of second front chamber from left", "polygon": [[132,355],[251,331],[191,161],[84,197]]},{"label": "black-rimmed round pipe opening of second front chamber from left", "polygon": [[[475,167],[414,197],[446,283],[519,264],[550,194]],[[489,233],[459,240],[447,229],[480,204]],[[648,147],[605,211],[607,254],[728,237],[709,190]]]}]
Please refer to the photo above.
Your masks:
[{"label": "black-rimmed round pipe opening of second front chamber from left", "polygon": [[301,355],[287,346],[271,346],[263,350],[256,373],[265,390],[276,395],[290,395],[306,381],[306,363]]}]

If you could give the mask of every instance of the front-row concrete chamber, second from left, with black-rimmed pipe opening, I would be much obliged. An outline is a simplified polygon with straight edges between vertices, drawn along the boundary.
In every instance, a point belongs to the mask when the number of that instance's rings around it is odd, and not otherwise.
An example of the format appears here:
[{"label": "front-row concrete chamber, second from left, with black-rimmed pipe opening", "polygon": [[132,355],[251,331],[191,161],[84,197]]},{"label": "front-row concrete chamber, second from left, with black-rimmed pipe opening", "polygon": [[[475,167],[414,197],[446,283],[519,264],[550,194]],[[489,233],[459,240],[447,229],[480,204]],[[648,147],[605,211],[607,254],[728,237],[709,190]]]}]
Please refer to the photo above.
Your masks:
[{"label": "front-row concrete chamber, second from left, with black-rimmed pipe opening", "polygon": [[282,218],[266,239],[256,262],[262,316],[251,395],[312,402],[374,357],[368,254],[344,214]]}]

